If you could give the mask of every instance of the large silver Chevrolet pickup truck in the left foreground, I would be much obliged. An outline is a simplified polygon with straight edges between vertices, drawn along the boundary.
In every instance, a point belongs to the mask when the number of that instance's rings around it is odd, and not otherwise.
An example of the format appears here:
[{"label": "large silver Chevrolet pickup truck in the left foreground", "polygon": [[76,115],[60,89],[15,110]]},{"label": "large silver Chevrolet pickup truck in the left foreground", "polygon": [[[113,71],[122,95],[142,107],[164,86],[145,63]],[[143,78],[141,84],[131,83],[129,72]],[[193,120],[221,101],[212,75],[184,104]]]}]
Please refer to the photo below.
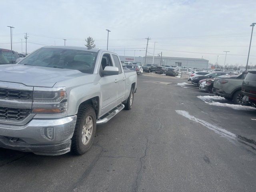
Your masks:
[{"label": "large silver Chevrolet pickup truck in the left foreground", "polygon": [[46,46],[0,65],[0,147],[84,154],[96,124],[132,108],[136,82],[117,54],[98,49]]}]

